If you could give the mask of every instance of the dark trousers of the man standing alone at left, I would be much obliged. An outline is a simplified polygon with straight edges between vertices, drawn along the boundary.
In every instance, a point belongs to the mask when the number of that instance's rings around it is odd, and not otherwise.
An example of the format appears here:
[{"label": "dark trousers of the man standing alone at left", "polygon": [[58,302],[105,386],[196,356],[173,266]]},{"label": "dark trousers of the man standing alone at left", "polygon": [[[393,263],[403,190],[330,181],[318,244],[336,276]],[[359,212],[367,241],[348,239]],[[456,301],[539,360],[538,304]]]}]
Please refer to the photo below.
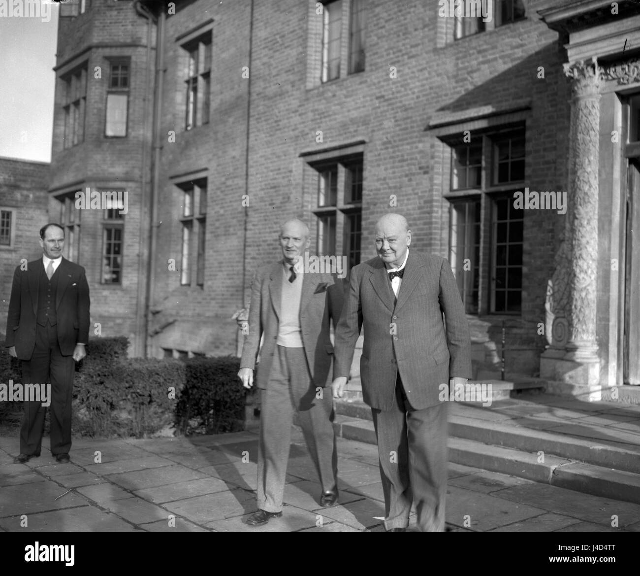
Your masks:
[{"label": "dark trousers of the man standing alone at left", "polygon": [[[58,329],[36,325],[33,356],[22,361],[23,384],[51,383],[51,453],[65,454],[71,449],[71,399],[74,387],[73,356],[63,356],[58,345]],[[24,402],[20,429],[20,452],[40,454],[47,408],[42,402]]]}]

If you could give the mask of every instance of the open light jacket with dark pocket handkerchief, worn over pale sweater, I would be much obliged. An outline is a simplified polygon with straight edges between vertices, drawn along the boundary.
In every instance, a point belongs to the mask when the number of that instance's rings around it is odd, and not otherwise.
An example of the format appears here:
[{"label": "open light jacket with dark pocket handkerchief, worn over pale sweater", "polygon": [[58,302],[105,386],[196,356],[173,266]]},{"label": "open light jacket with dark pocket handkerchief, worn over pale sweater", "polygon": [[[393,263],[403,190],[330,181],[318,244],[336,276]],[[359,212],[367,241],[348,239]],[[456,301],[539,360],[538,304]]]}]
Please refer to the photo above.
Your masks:
[{"label": "open light jacket with dark pocket handkerchief, worn over pale sweater", "polygon": [[[254,274],[251,284],[249,331],[244,336],[241,368],[255,369],[260,352],[260,365],[256,374],[257,386],[267,388],[273,354],[278,338],[278,318],[282,297],[282,260],[266,265]],[[330,320],[337,325],[342,309],[344,288],[331,274],[305,272],[300,297],[300,329],[307,364],[314,386],[331,384],[333,345],[329,338]],[[260,337],[264,343],[260,348]]]}]

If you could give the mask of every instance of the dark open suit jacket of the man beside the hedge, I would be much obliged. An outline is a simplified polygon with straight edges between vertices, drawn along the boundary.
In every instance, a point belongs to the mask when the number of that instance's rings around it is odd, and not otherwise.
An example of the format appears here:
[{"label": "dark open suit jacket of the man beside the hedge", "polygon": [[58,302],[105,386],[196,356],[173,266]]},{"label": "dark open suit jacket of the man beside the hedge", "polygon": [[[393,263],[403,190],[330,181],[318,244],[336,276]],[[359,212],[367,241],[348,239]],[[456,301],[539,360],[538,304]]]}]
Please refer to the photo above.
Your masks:
[{"label": "dark open suit jacket of the man beside the hedge", "polygon": [[[6,318],[6,347],[15,346],[20,360],[29,360],[36,344],[38,282],[44,268],[42,258],[15,268],[9,313]],[[71,356],[78,342],[89,340],[89,286],[84,268],[63,258],[58,266],[56,317],[58,344],[63,356]]]}]

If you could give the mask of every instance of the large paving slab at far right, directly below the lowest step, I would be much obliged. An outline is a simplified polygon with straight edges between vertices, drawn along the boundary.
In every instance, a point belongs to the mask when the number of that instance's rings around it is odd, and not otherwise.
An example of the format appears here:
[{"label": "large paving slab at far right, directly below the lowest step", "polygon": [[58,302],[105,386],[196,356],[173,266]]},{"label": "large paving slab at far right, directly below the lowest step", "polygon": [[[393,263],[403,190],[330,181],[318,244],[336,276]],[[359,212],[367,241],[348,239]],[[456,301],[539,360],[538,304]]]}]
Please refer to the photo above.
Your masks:
[{"label": "large paving slab at far right, directly below the lowest step", "polygon": [[618,516],[618,525],[621,527],[640,520],[640,504],[592,496],[548,484],[514,486],[501,490],[499,496],[512,502],[531,504],[548,512],[605,526],[611,525],[613,514]]}]

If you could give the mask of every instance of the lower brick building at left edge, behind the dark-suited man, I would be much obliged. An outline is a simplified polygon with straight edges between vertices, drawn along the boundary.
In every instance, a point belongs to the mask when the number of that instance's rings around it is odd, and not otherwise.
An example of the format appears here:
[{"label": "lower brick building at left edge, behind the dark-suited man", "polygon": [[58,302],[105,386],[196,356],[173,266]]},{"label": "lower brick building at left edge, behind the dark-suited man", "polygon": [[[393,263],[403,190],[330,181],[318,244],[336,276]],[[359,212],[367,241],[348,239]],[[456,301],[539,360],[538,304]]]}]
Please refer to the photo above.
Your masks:
[{"label": "lower brick building at left edge, behind the dark-suited man", "polygon": [[0,333],[6,327],[13,270],[42,255],[49,163],[0,158]]}]

